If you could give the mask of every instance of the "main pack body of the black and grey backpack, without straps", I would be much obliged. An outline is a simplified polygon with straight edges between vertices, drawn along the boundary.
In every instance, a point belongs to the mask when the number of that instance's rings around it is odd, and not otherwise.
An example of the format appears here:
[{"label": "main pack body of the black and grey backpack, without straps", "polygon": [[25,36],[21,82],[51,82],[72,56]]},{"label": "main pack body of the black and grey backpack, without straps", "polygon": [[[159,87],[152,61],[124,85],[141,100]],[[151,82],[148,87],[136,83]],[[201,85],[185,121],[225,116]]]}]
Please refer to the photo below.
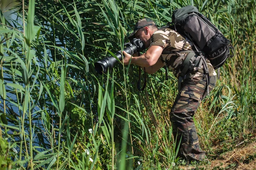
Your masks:
[{"label": "main pack body of the black and grey backpack, without straps", "polygon": [[175,31],[185,35],[204,53],[214,69],[221,67],[228,57],[233,57],[233,46],[195,6],[185,6],[174,10],[172,24]]}]

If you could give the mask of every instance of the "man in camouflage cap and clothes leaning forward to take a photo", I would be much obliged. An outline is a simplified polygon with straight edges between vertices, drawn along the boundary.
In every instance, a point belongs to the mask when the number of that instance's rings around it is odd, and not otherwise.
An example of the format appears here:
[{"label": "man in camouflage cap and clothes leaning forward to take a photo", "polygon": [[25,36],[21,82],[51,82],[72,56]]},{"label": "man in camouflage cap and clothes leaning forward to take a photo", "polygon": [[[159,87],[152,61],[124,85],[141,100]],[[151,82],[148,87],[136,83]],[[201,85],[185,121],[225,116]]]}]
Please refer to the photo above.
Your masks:
[{"label": "man in camouflage cap and clothes leaning forward to take a photo", "polygon": [[[166,65],[178,78],[182,72],[182,63],[189,52],[192,52],[195,57],[198,56],[193,52],[192,43],[172,29],[158,29],[154,21],[149,18],[143,18],[137,22],[129,39],[135,37],[142,40],[145,48],[148,49],[139,57],[132,57],[123,51],[123,63],[128,65],[131,60],[131,64],[145,67],[145,72],[149,74],[155,73]],[[209,91],[211,91],[215,86],[217,75],[207,59],[206,62],[209,70]],[[204,65],[195,65],[192,71],[188,71],[183,77],[180,91],[170,113],[173,135],[175,139],[177,136],[177,143],[181,140],[178,156],[189,161],[207,159],[205,152],[200,149],[192,118],[201,100],[207,95],[206,89],[207,78],[204,74]]]}]

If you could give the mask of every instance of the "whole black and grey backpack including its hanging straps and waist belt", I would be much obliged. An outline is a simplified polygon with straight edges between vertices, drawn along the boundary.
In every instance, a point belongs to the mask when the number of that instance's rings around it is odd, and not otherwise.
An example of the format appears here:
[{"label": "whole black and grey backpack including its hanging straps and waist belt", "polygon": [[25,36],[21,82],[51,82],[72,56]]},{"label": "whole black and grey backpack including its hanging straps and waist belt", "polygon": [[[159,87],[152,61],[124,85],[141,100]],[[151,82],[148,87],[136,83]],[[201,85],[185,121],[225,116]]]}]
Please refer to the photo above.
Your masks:
[{"label": "whole black and grey backpack including its hanging straps and waist belt", "polygon": [[195,6],[185,6],[174,10],[172,13],[172,23],[168,23],[168,25],[167,27],[188,38],[194,44],[198,54],[198,57],[196,57],[193,53],[189,53],[183,61],[180,67],[180,77],[178,78],[179,91],[181,82],[183,79],[186,79],[186,75],[195,66],[201,67],[203,64],[208,94],[209,71],[205,57],[209,59],[214,69],[221,67],[228,57],[233,57],[234,48],[230,44],[230,40],[201,14]]}]

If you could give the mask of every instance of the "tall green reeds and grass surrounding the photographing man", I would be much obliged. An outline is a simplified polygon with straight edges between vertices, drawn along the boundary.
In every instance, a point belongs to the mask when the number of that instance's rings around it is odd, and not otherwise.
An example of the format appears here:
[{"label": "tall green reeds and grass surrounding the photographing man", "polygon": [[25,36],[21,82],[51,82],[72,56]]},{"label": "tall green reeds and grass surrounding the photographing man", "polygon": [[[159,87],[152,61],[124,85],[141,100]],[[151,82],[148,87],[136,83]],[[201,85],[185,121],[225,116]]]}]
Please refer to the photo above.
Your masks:
[{"label": "tall green reeds and grass surrounding the photographing man", "polygon": [[138,19],[164,26],[172,10],[190,4],[235,47],[195,114],[210,162],[191,166],[224,169],[211,165],[219,158],[231,161],[230,169],[255,162],[255,153],[233,162],[223,156],[255,141],[255,3],[1,0],[0,169],[186,168],[176,157],[169,120],[177,94],[172,72],[168,80],[164,69],[147,75],[138,91],[137,66],[119,63],[99,75],[94,63],[122,49]]}]

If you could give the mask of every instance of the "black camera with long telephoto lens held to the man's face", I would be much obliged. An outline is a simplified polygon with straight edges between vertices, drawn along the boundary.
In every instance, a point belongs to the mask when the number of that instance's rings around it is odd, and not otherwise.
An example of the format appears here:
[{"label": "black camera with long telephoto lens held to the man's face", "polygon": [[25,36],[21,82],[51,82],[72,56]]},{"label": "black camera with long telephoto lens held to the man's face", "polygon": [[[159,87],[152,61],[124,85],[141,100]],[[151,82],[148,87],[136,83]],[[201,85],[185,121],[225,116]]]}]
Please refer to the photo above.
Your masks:
[{"label": "black camera with long telephoto lens held to the man's face", "polygon": [[[145,49],[145,45],[144,45],[143,41],[141,41],[140,39],[134,38],[130,42],[125,43],[125,48],[123,51],[132,55],[132,54],[136,53],[137,51],[140,52],[144,49]],[[122,60],[122,51],[121,50],[116,53],[116,57],[119,60]],[[97,71],[97,73],[99,73],[99,74],[106,73],[108,71],[108,69],[112,69],[116,65],[117,61],[118,60],[115,59],[114,57],[106,57],[104,59],[97,61],[94,64],[94,67],[95,67],[95,70]]]}]

